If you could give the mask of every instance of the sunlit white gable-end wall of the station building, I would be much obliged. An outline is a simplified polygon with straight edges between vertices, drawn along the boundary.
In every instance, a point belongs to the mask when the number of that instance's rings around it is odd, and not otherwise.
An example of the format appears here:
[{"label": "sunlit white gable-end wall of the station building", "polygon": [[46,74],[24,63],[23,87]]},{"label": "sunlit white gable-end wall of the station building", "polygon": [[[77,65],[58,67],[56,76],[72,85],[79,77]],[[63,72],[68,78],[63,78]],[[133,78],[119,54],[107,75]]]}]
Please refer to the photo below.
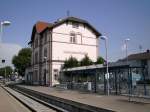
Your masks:
[{"label": "sunlit white gable-end wall of the station building", "polygon": [[[74,32],[77,35],[77,43],[70,42],[70,33]],[[98,56],[98,38],[86,26],[82,24],[79,28],[73,28],[71,23],[62,24],[52,31],[52,60],[64,61],[70,56],[77,58],[79,61],[87,54],[92,61],[96,61]],[[54,69],[60,71],[60,62],[52,63],[52,83],[58,84],[54,80]]]}]

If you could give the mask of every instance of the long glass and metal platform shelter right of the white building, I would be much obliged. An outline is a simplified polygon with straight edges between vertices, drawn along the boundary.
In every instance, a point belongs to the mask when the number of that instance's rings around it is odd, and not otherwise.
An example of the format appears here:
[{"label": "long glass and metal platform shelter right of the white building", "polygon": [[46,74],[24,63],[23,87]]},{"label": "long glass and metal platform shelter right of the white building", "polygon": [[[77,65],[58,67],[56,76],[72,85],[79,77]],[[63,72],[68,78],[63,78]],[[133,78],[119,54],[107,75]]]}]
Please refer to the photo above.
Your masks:
[{"label": "long glass and metal platform shelter right of the white building", "polygon": [[[107,94],[108,79],[105,77],[105,68],[84,71],[80,70],[69,72],[69,74],[70,82],[65,82],[68,89]],[[78,82],[79,79],[80,82]],[[87,80],[85,81],[85,79]],[[110,94],[150,96],[150,84],[148,79],[148,74],[142,67],[127,66],[122,68],[109,68]]]}]

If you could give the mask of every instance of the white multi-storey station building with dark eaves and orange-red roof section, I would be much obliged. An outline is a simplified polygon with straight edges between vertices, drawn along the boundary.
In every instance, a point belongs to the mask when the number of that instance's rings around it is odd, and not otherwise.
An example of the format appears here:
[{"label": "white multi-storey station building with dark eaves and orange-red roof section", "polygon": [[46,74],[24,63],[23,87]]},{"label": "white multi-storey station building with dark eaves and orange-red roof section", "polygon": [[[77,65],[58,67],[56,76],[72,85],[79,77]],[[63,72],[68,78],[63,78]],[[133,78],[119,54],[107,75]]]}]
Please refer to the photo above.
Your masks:
[{"label": "white multi-storey station building with dark eaves and orange-red roof section", "polygon": [[59,83],[59,71],[70,56],[81,60],[88,55],[96,61],[100,35],[87,21],[75,17],[37,22],[30,41],[33,73],[29,79],[33,84],[53,86]]}]

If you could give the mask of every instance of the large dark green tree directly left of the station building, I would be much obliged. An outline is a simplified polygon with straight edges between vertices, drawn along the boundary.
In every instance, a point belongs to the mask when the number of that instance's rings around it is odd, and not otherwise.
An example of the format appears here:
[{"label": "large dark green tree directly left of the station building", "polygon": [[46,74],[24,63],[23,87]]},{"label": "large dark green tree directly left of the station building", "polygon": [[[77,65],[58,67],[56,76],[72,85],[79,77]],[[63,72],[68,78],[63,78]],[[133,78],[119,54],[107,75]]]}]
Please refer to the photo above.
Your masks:
[{"label": "large dark green tree directly left of the station building", "polygon": [[14,56],[12,63],[22,76],[25,74],[25,69],[31,65],[31,48],[23,48],[17,56]]}]

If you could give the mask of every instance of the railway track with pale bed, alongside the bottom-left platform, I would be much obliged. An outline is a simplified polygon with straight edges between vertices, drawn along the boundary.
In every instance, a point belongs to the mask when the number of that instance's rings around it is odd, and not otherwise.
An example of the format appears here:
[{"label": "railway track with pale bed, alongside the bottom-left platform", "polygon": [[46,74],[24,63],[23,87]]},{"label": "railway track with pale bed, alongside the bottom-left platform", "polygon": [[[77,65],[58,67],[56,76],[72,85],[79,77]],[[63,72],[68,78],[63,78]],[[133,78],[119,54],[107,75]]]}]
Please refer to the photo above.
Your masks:
[{"label": "railway track with pale bed, alongside the bottom-left platform", "polygon": [[46,103],[17,89],[3,87],[10,95],[26,106],[32,112],[68,112],[60,107]]}]

